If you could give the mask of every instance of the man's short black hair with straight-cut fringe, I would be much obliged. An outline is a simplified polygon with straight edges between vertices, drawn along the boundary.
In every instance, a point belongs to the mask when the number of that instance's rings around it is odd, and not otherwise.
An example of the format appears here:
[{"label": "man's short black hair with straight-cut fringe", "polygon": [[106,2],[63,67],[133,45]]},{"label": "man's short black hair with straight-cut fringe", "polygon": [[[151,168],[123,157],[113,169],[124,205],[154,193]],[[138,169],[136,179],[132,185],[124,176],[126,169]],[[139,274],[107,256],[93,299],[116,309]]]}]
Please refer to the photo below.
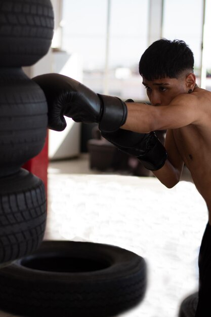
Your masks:
[{"label": "man's short black hair with straight-cut fringe", "polygon": [[148,81],[178,78],[185,70],[193,71],[194,57],[189,46],[179,39],[161,38],[152,43],[142,55],[139,73]]}]

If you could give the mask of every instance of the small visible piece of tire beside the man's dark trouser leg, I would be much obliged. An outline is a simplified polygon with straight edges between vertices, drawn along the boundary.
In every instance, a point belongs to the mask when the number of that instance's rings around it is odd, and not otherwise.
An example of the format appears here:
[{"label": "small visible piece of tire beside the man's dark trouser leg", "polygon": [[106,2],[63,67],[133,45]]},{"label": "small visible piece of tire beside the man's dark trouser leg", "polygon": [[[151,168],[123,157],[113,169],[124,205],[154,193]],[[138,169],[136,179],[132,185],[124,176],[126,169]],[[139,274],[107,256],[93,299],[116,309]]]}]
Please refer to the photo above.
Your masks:
[{"label": "small visible piece of tire beside the man's dark trouser leg", "polygon": [[195,317],[198,304],[198,292],[185,298],[180,306],[179,317]]}]

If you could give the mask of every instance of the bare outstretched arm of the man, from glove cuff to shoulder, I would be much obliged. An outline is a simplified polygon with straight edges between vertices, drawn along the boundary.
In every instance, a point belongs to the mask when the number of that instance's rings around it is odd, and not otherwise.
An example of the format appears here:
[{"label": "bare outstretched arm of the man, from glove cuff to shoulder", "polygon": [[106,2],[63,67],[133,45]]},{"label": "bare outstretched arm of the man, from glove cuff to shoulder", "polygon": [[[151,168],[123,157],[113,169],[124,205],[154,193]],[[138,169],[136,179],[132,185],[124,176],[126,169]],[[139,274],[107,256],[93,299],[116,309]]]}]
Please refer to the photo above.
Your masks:
[{"label": "bare outstretched arm of the man, from glove cuff to shoulder", "polygon": [[126,103],[128,115],[121,129],[139,133],[178,129],[200,120],[199,107],[194,96],[181,94],[165,106],[145,103]]}]

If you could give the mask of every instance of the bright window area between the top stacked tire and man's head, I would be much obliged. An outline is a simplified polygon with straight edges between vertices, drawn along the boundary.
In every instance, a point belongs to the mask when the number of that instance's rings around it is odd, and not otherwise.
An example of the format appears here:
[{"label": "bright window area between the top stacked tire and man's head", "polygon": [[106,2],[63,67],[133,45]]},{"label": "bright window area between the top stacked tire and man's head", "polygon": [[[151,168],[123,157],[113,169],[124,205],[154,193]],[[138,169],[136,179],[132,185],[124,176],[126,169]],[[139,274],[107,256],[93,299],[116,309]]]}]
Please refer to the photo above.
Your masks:
[{"label": "bright window area between the top stacked tire and man's head", "polygon": [[147,47],[148,2],[110,0],[108,28],[108,0],[64,0],[62,50],[72,63],[62,72],[97,93],[105,92],[107,80],[108,94],[143,99],[138,63]]}]

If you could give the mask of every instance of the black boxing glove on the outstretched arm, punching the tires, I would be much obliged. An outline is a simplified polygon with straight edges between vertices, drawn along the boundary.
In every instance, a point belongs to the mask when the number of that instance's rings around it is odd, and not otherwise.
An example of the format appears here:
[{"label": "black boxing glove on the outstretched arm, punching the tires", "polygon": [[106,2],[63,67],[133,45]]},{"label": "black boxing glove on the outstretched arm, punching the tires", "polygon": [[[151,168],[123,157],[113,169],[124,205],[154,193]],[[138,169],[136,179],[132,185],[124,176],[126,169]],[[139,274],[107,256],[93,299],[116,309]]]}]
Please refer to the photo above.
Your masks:
[{"label": "black boxing glove on the outstretched arm, punching the tires", "polygon": [[127,107],[117,97],[96,94],[72,78],[56,73],[36,76],[33,81],[46,95],[48,126],[52,130],[66,128],[64,115],[75,122],[96,122],[104,132],[116,131],[126,121]]}]

